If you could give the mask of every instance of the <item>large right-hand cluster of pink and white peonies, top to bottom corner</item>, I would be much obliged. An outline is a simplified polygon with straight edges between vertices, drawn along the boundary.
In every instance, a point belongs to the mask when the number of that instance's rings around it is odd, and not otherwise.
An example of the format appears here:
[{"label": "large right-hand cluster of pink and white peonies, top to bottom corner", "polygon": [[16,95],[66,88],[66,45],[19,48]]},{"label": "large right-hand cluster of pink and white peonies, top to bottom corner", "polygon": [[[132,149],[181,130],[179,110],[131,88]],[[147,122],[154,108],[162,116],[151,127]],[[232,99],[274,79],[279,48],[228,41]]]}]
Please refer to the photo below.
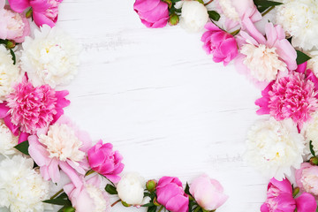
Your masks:
[{"label": "large right-hand cluster of pink and white peonies, top to bottom corner", "polygon": [[[313,195],[318,195],[318,2],[152,2],[136,0],[134,4],[146,27],[173,26],[180,20],[188,32],[205,28],[201,42],[208,55],[223,65],[233,61],[237,71],[262,90],[255,102],[257,114],[269,117],[252,126],[245,154],[255,169],[274,177],[261,211],[314,212]],[[266,16],[269,11],[272,17]],[[311,163],[304,163],[304,158]],[[296,199],[286,178],[294,170],[302,193]]]}]

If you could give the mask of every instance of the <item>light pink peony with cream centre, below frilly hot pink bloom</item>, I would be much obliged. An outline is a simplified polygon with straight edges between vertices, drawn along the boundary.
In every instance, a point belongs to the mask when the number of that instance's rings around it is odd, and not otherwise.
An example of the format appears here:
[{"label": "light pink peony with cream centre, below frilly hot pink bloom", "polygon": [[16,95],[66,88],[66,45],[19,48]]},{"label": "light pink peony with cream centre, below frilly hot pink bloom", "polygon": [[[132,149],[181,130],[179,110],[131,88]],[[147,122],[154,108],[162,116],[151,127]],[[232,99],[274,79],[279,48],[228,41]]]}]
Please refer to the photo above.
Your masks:
[{"label": "light pink peony with cream centre, below frilly hot pink bloom", "polygon": [[75,186],[81,185],[78,173],[84,175],[89,169],[87,150],[92,141],[86,132],[80,131],[66,117],[57,123],[28,137],[28,152],[40,166],[42,177],[57,183],[60,169],[72,180]]}]

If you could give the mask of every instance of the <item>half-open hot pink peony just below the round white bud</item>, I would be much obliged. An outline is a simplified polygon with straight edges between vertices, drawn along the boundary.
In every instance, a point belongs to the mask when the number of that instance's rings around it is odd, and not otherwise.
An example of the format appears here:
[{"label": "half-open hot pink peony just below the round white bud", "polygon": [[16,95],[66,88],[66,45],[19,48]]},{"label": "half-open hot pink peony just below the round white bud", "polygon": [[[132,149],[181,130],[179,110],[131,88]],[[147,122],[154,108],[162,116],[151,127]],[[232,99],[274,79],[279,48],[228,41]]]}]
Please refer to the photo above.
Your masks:
[{"label": "half-open hot pink peony just below the round white bud", "polygon": [[231,34],[213,23],[206,24],[205,28],[208,31],[202,35],[201,42],[204,42],[203,49],[213,55],[214,62],[227,65],[238,56],[238,44]]}]

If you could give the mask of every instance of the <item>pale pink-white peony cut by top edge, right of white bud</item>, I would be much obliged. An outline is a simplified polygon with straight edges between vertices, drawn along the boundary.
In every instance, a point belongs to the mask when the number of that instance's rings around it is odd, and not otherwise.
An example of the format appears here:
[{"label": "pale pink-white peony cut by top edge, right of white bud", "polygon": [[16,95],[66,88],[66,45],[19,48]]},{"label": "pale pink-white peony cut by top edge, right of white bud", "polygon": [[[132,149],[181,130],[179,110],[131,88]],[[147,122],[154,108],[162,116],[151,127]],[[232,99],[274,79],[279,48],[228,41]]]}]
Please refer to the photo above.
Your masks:
[{"label": "pale pink-white peony cut by top edge, right of white bud", "polygon": [[228,30],[237,27],[243,19],[257,22],[262,18],[253,0],[216,0],[216,6],[217,11],[227,18],[225,28]]}]

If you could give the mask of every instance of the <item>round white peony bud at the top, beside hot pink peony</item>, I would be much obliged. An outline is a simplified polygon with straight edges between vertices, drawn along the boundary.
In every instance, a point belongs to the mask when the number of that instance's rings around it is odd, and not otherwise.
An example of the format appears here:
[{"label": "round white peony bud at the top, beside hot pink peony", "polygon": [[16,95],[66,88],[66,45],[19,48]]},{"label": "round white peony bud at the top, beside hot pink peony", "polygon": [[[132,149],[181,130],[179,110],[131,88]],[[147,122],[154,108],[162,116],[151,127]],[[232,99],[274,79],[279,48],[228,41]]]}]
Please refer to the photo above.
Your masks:
[{"label": "round white peony bud at the top, beside hot pink peony", "polygon": [[203,29],[208,22],[207,8],[197,1],[184,1],[180,16],[180,25],[186,31],[195,33]]}]

